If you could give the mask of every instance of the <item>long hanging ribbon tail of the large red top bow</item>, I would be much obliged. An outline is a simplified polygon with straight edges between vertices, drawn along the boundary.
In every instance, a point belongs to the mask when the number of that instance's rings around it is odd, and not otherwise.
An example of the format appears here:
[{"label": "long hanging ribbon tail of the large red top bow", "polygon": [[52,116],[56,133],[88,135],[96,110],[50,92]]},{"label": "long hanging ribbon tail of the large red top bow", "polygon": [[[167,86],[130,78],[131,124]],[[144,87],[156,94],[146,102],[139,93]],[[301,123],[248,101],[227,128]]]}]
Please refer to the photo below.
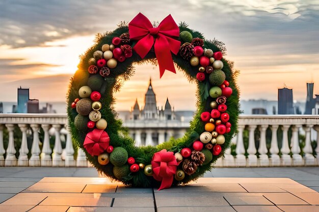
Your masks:
[{"label": "long hanging ribbon tail of the large red top bow", "polygon": [[165,70],[176,74],[170,45],[164,36],[159,35],[158,38],[156,38],[154,50],[159,67],[159,76],[162,78]]}]

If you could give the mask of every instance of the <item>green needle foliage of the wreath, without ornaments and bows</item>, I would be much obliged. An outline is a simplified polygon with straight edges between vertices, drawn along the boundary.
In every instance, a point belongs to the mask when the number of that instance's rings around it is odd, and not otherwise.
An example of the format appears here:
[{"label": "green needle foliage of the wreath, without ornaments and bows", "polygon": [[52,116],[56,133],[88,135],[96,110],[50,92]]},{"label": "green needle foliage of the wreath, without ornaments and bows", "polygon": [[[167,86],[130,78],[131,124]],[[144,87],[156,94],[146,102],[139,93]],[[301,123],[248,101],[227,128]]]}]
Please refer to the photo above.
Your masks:
[{"label": "green needle foliage of the wreath, without ornaments and bows", "polygon": [[[193,38],[202,38],[203,35],[200,32],[194,31],[193,29],[188,28],[188,25],[185,23],[179,24],[180,32],[188,31],[192,34]],[[74,126],[74,118],[77,115],[75,109],[73,109],[70,105],[74,101],[74,99],[79,98],[78,89],[79,87],[86,85],[86,81],[89,77],[88,68],[89,58],[92,57],[93,52],[96,50],[100,50],[103,44],[111,44],[112,39],[114,37],[120,37],[123,33],[128,33],[127,23],[122,22],[118,28],[116,28],[113,32],[108,32],[105,34],[98,34],[96,36],[95,44],[89,48],[84,55],[81,56],[81,62],[78,65],[78,70],[75,75],[71,78],[68,94],[67,94],[67,113],[69,117],[69,126],[71,129],[71,134],[73,138],[73,142],[79,147],[84,148],[83,143],[86,137],[86,134],[90,131],[79,131]],[[131,46],[134,46],[136,42],[132,42]],[[183,42],[182,42],[183,43]],[[222,42],[217,41],[216,39],[210,41],[205,40],[204,48],[211,49],[212,51],[221,51],[224,55],[226,53],[226,49]],[[127,150],[128,156],[133,157],[136,160],[136,163],[143,163],[148,165],[151,163],[152,157],[154,153],[159,152],[162,149],[167,149],[168,151],[172,151],[174,153],[179,152],[184,147],[191,147],[192,143],[196,140],[199,140],[199,136],[203,133],[204,124],[200,118],[200,114],[203,111],[210,111],[211,108],[209,103],[214,101],[215,99],[209,97],[209,84],[208,79],[200,82],[196,79],[196,74],[198,73],[198,67],[193,67],[190,65],[189,60],[183,59],[179,54],[174,55],[173,60],[175,65],[178,67],[180,71],[182,71],[185,77],[188,78],[190,82],[197,84],[197,111],[194,115],[194,119],[190,123],[190,129],[185,133],[182,138],[179,139],[171,139],[165,143],[159,144],[157,146],[135,146],[134,139],[127,136],[125,129],[122,127],[122,120],[117,119],[117,112],[114,109],[115,99],[113,93],[119,92],[121,87],[121,82],[129,80],[129,78],[135,74],[135,69],[133,64],[143,64],[143,63],[152,63],[156,64],[156,57],[154,51],[150,51],[144,59],[133,51],[132,57],[126,58],[126,60],[122,63],[118,63],[116,68],[111,69],[111,73],[108,77],[105,78],[104,84],[101,90],[101,100],[102,109],[100,110],[102,114],[102,118],[107,120],[108,127],[105,131],[110,136],[110,145],[113,147],[121,146]],[[224,155],[225,149],[230,146],[231,138],[233,137],[236,131],[236,123],[238,119],[239,110],[239,93],[235,83],[235,72],[233,71],[233,63],[229,62],[225,58],[222,59],[224,64],[223,71],[226,74],[226,80],[229,82],[229,86],[232,88],[232,95],[227,98],[227,112],[230,116],[229,122],[231,123],[231,131],[226,133],[224,136],[226,141],[222,144],[222,153],[218,156],[213,156],[211,163],[199,166],[197,171],[188,175],[185,174],[185,177],[181,181],[177,181],[174,179],[173,185],[187,184],[192,180],[197,179],[206,171],[209,171],[212,167],[211,164],[214,164],[219,157]],[[91,74],[90,74],[91,75]],[[127,132],[127,131],[126,131]],[[113,174],[113,165],[109,163],[108,165],[100,165],[97,160],[97,156],[92,157],[85,150],[87,159],[97,168],[99,172],[102,174],[111,177],[114,180],[116,179]],[[182,164],[178,166],[178,169],[181,168]],[[150,186],[158,186],[161,182],[154,180],[152,176],[147,176],[144,174],[143,169],[140,169],[138,172],[131,172],[126,177],[121,178],[119,181],[122,181],[125,185],[134,186],[134,187],[150,187]]]}]

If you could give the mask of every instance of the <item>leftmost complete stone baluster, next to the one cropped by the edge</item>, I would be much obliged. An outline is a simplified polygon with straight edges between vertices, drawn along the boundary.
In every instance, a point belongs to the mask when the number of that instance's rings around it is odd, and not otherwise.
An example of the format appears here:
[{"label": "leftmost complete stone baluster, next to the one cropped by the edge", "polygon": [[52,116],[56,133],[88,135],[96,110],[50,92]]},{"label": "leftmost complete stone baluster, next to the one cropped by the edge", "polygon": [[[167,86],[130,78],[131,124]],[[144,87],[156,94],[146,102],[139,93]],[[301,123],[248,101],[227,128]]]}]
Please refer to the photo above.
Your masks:
[{"label": "leftmost complete stone baluster, next to the one cropped by the edge", "polygon": [[14,147],[14,125],[13,124],[6,124],[6,127],[9,131],[9,143],[7,148],[7,155],[6,155],[6,161],[5,166],[16,166],[17,165],[17,159],[15,157],[15,147]]}]

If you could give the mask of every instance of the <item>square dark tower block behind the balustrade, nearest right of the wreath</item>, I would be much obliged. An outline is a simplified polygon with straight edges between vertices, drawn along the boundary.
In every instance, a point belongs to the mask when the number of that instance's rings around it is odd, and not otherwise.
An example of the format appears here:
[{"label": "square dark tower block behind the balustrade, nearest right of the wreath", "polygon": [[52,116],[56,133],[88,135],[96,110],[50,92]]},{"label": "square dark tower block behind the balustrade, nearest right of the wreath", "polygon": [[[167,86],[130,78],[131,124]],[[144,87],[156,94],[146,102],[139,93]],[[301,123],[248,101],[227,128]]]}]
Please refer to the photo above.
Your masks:
[{"label": "square dark tower block behind the balustrade, nearest right of the wreath", "polygon": [[295,114],[293,89],[278,89],[278,114]]}]

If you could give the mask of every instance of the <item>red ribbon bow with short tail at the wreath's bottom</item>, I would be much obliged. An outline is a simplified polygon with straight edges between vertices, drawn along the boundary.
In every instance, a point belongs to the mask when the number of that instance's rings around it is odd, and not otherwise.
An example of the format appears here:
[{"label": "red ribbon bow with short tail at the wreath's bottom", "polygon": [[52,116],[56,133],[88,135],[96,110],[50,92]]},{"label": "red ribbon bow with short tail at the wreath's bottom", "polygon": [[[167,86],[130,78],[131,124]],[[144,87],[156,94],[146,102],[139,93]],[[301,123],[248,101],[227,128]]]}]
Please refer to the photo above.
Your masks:
[{"label": "red ribbon bow with short tail at the wreath's bottom", "polygon": [[170,188],[178,165],[174,153],[167,152],[166,149],[163,149],[154,154],[151,164],[154,179],[162,181],[161,187],[158,188],[158,191]]}]

